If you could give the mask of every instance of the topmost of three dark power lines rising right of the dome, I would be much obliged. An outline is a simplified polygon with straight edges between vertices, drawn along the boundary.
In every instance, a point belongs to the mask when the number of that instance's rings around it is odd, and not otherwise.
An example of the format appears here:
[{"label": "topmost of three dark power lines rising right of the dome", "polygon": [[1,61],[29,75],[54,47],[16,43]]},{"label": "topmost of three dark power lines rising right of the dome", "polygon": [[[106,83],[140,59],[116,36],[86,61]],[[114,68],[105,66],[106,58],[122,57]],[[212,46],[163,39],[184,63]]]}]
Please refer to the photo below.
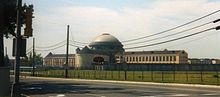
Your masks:
[{"label": "topmost of three dark power lines rising right of the dome", "polygon": [[143,36],[143,37],[139,37],[139,38],[134,38],[134,39],[130,39],[130,40],[125,40],[125,41],[122,41],[122,42],[136,41],[136,40],[140,40],[140,39],[152,37],[152,36],[155,36],[155,35],[163,34],[163,33],[166,33],[166,32],[172,31],[172,30],[175,30],[175,29],[177,29],[177,28],[186,26],[186,25],[188,25],[188,24],[194,23],[194,22],[196,22],[196,21],[199,21],[199,20],[201,20],[201,19],[203,19],[203,18],[206,18],[206,17],[208,17],[208,16],[211,16],[211,15],[213,15],[213,14],[215,14],[215,13],[218,13],[219,11],[220,11],[220,10],[214,11],[214,12],[212,12],[212,13],[210,13],[210,14],[207,14],[207,15],[205,15],[205,16],[202,16],[202,17],[197,18],[197,19],[195,19],[195,20],[192,20],[192,21],[190,21],[190,22],[184,23],[184,24],[182,24],[182,25],[176,26],[176,27],[174,27],[174,28],[170,28],[170,29],[168,29],[168,30],[161,31],[161,32],[159,32],[159,33],[155,33],[155,34],[151,34],[151,35]]}]

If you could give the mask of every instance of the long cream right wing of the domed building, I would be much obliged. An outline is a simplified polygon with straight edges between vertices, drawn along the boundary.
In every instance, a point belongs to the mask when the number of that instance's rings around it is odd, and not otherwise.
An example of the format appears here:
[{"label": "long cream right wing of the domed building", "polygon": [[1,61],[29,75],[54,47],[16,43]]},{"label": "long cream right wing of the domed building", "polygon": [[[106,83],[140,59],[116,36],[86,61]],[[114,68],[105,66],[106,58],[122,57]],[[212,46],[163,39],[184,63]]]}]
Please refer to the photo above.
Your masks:
[{"label": "long cream right wing of the domed building", "polygon": [[130,51],[116,55],[117,63],[187,64],[188,54],[184,50]]}]

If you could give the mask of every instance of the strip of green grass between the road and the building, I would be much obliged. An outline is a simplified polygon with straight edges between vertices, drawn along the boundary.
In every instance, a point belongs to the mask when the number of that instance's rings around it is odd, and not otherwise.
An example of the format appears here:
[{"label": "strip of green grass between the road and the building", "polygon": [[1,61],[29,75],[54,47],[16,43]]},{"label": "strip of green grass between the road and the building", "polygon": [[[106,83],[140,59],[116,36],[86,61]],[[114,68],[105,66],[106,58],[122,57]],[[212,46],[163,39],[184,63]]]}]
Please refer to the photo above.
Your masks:
[{"label": "strip of green grass between the road and the building", "polygon": [[[36,71],[36,76],[65,77],[65,70]],[[68,78],[220,85],[219,72],[68,70]]]}]

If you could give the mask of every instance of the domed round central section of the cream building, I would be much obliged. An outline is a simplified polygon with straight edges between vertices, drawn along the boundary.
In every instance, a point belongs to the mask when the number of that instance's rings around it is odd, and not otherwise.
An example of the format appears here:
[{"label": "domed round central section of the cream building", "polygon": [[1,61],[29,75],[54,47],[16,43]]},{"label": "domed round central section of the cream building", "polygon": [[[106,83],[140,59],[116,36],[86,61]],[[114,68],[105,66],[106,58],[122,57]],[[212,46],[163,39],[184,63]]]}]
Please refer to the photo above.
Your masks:
[{"label": "domed round central section of the cream building", "polygon": [[115,55],[123,52],[123,45],[117,38],[107,33],[99,35],[88,46],[76,49],[76,68],[104,68],[116,64]]}]

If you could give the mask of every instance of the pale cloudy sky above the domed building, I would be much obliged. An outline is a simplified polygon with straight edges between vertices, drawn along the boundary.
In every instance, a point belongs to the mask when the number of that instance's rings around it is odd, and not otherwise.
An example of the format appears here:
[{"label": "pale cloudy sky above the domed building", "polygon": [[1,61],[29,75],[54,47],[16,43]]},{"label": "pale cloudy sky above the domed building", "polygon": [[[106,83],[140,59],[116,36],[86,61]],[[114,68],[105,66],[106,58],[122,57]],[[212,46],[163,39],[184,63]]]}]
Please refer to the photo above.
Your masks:
[{"label": "pale cloudy sky above the domed building", "polygon": [[[219,0],[23,0],[23,3],[34,5],[33,37],[36,51],[43,57],[49,52],[66,52],[66,46],[62,44],[66,40],[67,25],[70,25],[71,45],[82,47],[103,33],[126,41],[152,35],[220,10]],[[220,18],[219,15],[220,12],[179,29],[122,44],[129,48],[196,33],[220,23],[210,23],[175,36],[143,42],[216,20]],[[220,59],[219,33],[210,30],[182,40],[126,51],[185,50],[190,58]],[[27,52],[32,49],[32,40],[27,40]],[[11,57],[12,38],[5,39],[5,47]],[[53,48],[57,49],[50,50]],[[75,53],[75,49],[70,46],[70,53]]]}]

